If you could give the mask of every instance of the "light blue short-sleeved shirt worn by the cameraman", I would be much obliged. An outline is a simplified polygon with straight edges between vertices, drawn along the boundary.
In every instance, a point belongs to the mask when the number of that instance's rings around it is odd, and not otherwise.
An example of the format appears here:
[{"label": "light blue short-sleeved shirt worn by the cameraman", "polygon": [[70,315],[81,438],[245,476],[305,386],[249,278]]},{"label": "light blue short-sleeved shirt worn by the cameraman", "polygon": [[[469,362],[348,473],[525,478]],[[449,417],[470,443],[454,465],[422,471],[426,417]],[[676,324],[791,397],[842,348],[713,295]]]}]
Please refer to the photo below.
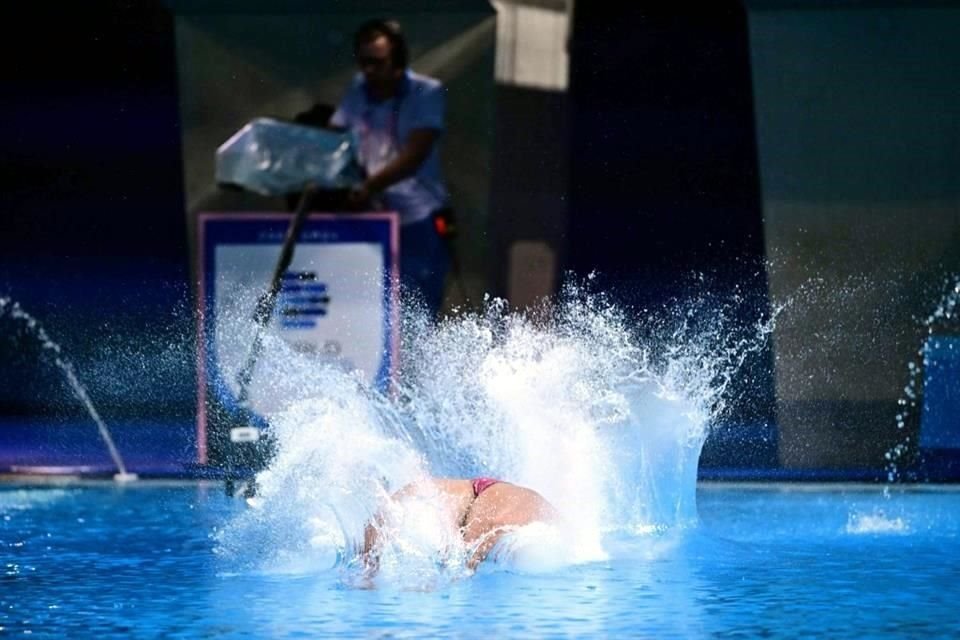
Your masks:
[{"label": "light blue short-sleeved shirt worn by the cameraman", "polygon": [[[440,81],[408,69],[397,95],[377,101],[369,95],[363,75],[358,73],[330,122],[353,131],[360,145],[360,163],[372,175],[397,156],[411,131],[443,131],[445,91]],[[433,145],[414,175],[383,193],[384,204],[400,214],[401,224],[424,220],[447,202],[439,146],[439,142]]]}]

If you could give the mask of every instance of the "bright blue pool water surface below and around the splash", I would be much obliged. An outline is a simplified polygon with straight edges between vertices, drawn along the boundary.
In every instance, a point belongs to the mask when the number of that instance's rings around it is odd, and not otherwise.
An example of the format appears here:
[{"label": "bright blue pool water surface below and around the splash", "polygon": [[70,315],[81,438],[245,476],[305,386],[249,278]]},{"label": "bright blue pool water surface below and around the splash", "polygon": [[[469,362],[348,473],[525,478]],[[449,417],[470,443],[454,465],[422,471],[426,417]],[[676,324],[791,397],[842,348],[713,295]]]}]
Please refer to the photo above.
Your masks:
[{"label": "bright blue pool water surface below and around the splash", "polygon": [[[204,483],[0,487],[0,627],[31,637],[956,637],[960,491],[702,483],[698,522],[607,536],[605,560],[359,589],[214,532]],[[268,549],[249,549],[263,557]]]}]

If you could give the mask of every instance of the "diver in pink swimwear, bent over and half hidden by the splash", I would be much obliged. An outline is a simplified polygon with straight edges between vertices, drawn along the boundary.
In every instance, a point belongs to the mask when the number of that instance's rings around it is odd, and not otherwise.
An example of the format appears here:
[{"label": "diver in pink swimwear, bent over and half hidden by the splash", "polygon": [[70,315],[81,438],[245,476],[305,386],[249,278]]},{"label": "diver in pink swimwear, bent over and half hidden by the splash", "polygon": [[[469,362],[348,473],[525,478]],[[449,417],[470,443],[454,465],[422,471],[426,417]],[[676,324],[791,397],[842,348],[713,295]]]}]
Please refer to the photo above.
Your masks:
[{"label": "diver in pink swimwear, bent over and half hidden by the splash", "polygon": [[[468,549],[467,568],[473,570],[504,534],[534,522],[556,525],[561,517],[542,495],[494,478],[427,478],[394,493],[394,504],[406,499],[440,496],[443,517],[455,525]],[[379,568],[386,518],[378,512],[364,529],[361,559],[369,574]]]}]

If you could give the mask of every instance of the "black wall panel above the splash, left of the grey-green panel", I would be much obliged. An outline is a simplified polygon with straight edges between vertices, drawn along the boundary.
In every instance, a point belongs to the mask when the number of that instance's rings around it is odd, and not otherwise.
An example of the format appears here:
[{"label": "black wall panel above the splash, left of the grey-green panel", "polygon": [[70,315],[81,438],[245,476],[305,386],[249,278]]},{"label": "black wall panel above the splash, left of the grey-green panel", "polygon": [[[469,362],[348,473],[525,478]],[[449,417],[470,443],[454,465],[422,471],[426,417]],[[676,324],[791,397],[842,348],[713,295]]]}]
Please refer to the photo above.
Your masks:
[{"label": "black wall panel above the splash, left of the grey-green panel", "polygon": [[[653,300],[763,256],[746,12],[577,6],[572,264]],[[763,286],[761,280],[754,286]]]}]

